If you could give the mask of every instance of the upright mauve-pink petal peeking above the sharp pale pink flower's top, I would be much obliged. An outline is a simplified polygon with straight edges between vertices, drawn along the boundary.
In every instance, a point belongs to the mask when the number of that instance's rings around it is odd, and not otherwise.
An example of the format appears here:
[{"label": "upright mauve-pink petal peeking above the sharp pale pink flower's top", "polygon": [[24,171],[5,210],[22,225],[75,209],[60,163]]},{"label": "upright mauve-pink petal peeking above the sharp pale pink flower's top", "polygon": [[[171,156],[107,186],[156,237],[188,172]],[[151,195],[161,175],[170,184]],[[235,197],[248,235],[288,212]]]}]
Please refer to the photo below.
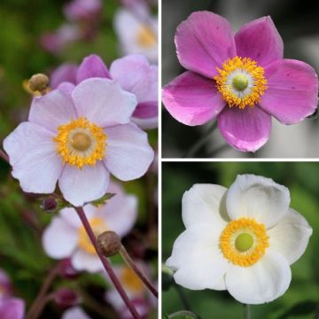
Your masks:
[{"label": "upright mauve-pink petal peeking above the sharp pale pink flower's top", "polygon": [[76,74],[76,82],[80,83],[94,77],[111,79],[111,75],[102,58],[91,54],[89,57],[84,58],[82,64],[79,66]]}]

